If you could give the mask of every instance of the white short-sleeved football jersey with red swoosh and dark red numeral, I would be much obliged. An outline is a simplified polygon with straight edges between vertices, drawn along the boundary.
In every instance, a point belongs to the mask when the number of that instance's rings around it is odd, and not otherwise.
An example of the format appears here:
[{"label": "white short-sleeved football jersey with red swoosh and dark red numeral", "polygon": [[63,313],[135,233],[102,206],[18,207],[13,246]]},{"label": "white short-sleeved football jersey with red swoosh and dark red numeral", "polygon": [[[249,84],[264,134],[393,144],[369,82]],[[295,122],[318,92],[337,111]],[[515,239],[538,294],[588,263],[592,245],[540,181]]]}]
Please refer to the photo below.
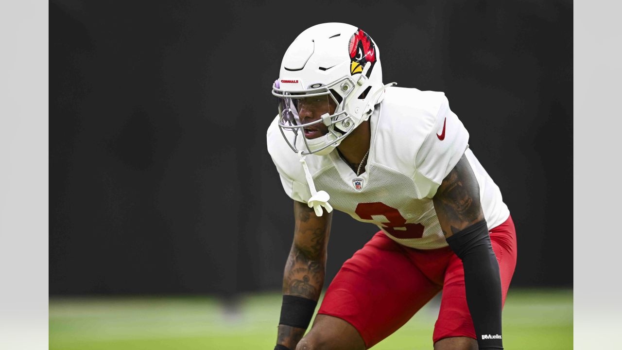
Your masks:
[{"label": "white short-sleeved football jersey with red swoosh and dark red numeral", "polygon": [[[268,151],[287,195],[307,203],[311,193],[304,170],[298,155],[285,143],[278,120],[277,116],[267,131]],[[337,149],[326,156],[306,158],[317,191],[328,192],[334,209],[377,225],[407,247],[445,247],[432,197],[466,154],[480,185],[488,229],[508,219],[499,187],[468,149],[468,132],[450,110],[444,93],[389,87],[369,122],[369,156],[360,176],[341,160]],[[285,135],[294,138],[293,133]]]}]

